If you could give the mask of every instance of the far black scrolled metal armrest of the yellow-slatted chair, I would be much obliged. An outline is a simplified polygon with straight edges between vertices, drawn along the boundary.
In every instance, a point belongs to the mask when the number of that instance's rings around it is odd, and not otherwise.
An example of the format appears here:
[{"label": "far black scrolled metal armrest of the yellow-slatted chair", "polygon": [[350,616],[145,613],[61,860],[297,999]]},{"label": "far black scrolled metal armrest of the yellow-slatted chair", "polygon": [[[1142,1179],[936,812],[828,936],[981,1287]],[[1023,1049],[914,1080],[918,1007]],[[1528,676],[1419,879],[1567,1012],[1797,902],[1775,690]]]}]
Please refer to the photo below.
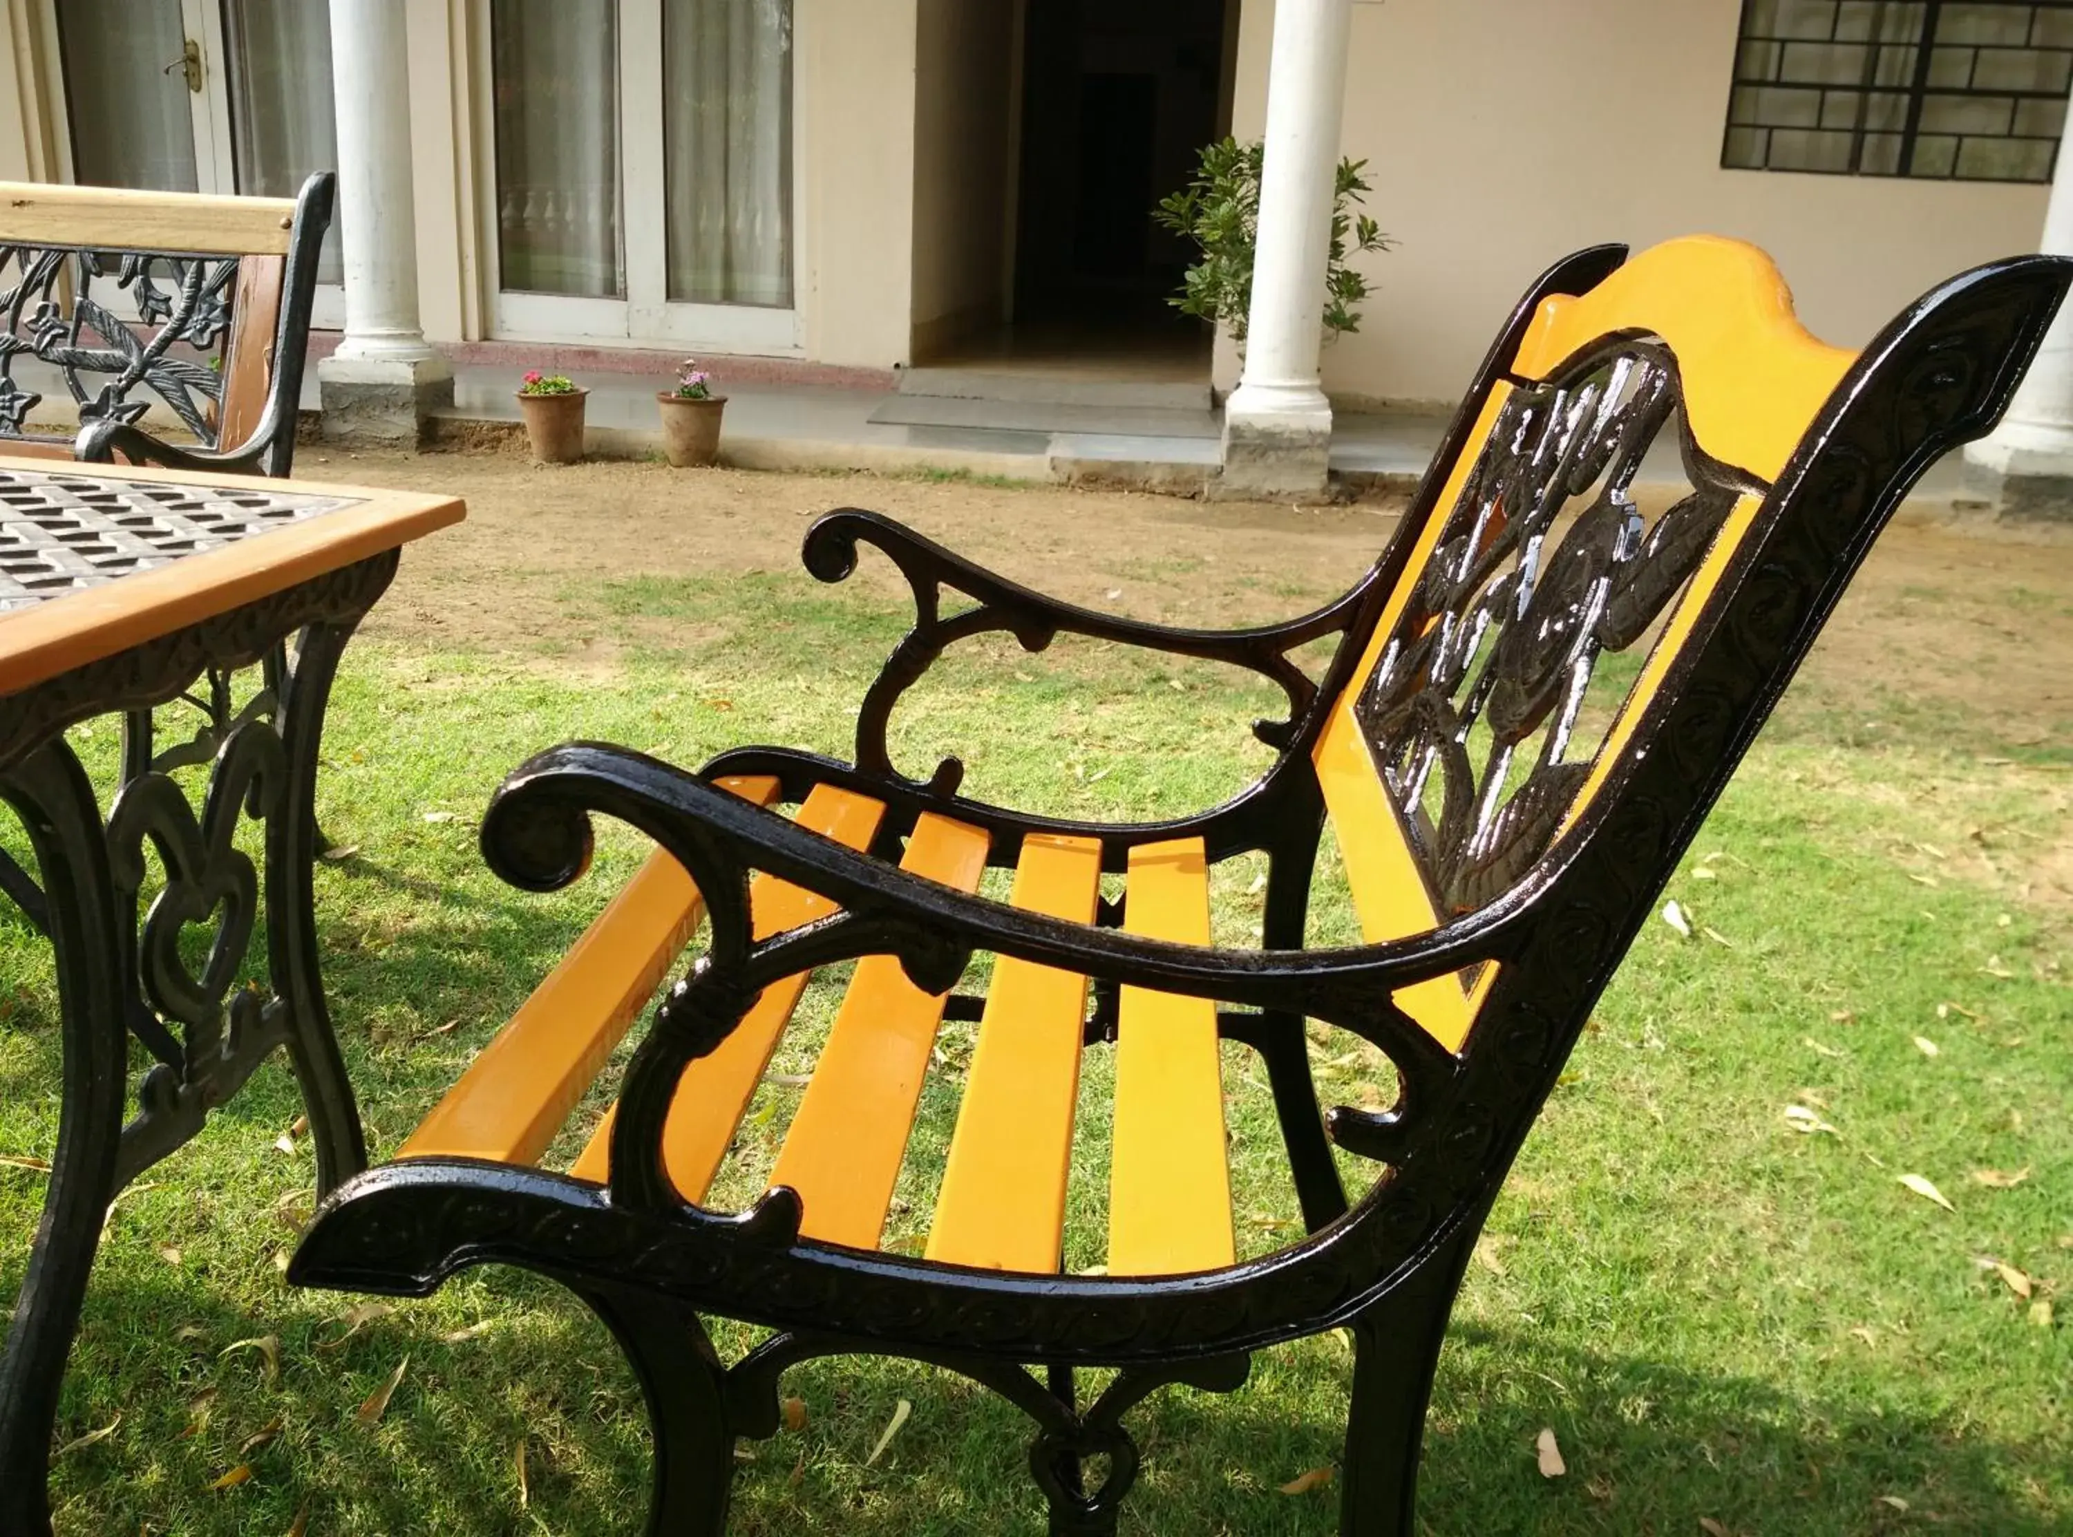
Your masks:
[{"label": "far black scrolled metal armrest of the yellow-slatted chair", "polygon": [[[1289,660],[1289,651],[1318,637],[1343,633],[1354,622],[1366,593],[1366,587],[1360,585],[1345,597],[1283,624],[1236,631],[1144,624],[1047,597],[945,550],[904,523],[862,508],[837,508],[819,519],[806,531],[800,556],[806,570],[821,581],[835,583],[856,570],[856,548],[862,543],[883,550],[900,566],[900,575],[906,577],[914,593],[914,628],[885,660],[856,714],[856,765],[893,778],[904,778],[893,770],[885,747],[885,726],[893,705],[920,682],[945,647],[989,631],[1007,631],[1022,643],[1024,651],[1043,651],[1063,633],[1258,672],[1287,695],[1289,716],[1277,722],[1256,722],[1252,730],[1269,747],[1287,747],[1304,711],[1316,699],[1316,684]],[[970,597],[972,608],[945,616],[945,591]],[[956,759],[945,759],[931,780],[931,788],[954,792],[960,778],[962,767]]]}]

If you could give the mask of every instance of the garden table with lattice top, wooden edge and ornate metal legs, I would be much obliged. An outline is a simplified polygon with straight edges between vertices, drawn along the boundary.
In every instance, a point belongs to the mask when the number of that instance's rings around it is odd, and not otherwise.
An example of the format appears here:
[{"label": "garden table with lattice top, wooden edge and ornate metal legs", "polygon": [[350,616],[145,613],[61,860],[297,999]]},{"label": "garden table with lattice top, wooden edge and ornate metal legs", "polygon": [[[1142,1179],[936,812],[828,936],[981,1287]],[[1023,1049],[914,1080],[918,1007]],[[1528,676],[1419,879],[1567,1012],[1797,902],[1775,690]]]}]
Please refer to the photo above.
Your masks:
[{"label": "garden table with lattice top, wooden edge and ornate metal legs", "polygon": [[[460,516],[450,496],[0,456],[0,799],[39,877],[6,861],[0,884],[50,938],[62,1029],[58,1143],[0,1357],[0,1537],[48,1531],[58,1388],[114,1195],[278,1045],[319,1191],[367,1162],[317,969],[317,751],[400,548]],[[104,815],[66,728],[176,699],[193,738],[126,753]],[[174,772],[203,763],[191,803]],[[145,844],[164,884],[141,913]],[[238,985],[261,902],[263,967]],[[131,1037],[153,1062],[126,1118]]]}]

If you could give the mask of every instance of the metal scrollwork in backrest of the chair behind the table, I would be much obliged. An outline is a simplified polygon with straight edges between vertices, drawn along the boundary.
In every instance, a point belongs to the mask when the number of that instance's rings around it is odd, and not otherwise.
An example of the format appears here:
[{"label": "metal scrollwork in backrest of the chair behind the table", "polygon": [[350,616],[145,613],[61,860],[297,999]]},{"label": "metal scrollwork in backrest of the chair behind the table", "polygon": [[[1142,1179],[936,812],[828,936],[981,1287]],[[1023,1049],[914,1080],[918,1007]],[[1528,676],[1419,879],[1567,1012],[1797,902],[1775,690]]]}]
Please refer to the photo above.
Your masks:
[{"label": "metal scrollwork in backrest of the chair behind the table", "polygon": [[[236,276],[238,257],[0,245],[0,436],[21,438],[44,400],[15,378],[29,355],[64,375],[83,423],[135,423],[151,407],[137,392],[149,390],[216,448]],[[110,284],[131,299],[135,326],[95,297]]]}]

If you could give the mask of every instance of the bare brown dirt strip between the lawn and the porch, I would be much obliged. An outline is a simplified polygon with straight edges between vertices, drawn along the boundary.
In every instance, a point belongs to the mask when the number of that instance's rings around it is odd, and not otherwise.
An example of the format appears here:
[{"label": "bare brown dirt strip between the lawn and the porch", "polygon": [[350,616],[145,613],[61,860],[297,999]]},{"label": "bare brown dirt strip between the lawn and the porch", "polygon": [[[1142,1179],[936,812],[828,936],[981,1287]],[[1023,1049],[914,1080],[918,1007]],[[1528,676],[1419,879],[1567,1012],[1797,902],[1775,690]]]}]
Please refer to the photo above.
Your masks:
[{"label": "bare brown dirt strip between the lawn and the porch", "polygon": [[[340,454],[311,479],[450,490],[468,519],[404,556],[373,635],[479,647],[556,637],[585,575],[798,572],[835,506],[887,512],[1043,591],[1169,624],[1285,618],[1343,591],[1395,529],[1395,504],[1204,504],[1171,496],[875,475],[549,469],[506,454]],[[867,558],[860,585],[898,577]],[[2073,537],[1899,523],[1808,664],[1816,699],[1882,693],[1944,709],[2003,745],[2073,745]]]}]

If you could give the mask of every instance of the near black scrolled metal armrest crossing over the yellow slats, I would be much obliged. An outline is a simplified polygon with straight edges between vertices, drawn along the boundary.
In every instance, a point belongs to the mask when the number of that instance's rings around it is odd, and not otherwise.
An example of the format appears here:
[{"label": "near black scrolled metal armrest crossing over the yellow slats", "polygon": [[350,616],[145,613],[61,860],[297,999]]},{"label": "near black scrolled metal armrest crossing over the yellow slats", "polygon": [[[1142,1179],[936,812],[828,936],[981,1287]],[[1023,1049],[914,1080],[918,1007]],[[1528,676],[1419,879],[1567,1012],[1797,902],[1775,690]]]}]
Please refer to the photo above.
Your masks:
[{"label": "near black scrolled metal armrest crossing over the yellow slats", "polygon": [[[949,991],[972,952],[1339,1025],[1383,1050],[1403,1081],[1403,1106],[1447,1101],[1461,1060],[1393,1000],[1399,987],[1513,958],[1530,890],[1484,913],[1387,944],[1347,950],[1219,950],[1072,923],[968,896],[910,875],[750,805],[680,767],[603,743],[566,743],[514,770],[489,801],[481,848],[522,890],[558,890],[591,857],[591,813],[618,817],[674,855],[705,896],[707,954],[678,983],[649,1041],[674,1062],[651,1068],[674,1091],[684,1064],[713,1052],[763,987],[823,965],[896,956],[916,987]],[[817,892],[837,913],[755,940],[748,875],[767,871]],[[674,1037],[674,1045],[668,1039]],[[643,1047],[636,1070],[655,1052]],[[628,1087],[622,1103],[632,1099]],[[668,1093],[659,1106],[665,1110]],[[657,1114],[661,1114],[657,1110]],[[1337,1118],[1335,1118],[1337,1120]],[[1387,1147],[1397,1116],[1347,1112],[1368,1153]],[[1337,1124],[1335,1124],[1337,1133]],[[1341,1139],[1343,1141],[1343,1139]],[[1387,1155],[1387,1153],[1370,1153]]]}]

